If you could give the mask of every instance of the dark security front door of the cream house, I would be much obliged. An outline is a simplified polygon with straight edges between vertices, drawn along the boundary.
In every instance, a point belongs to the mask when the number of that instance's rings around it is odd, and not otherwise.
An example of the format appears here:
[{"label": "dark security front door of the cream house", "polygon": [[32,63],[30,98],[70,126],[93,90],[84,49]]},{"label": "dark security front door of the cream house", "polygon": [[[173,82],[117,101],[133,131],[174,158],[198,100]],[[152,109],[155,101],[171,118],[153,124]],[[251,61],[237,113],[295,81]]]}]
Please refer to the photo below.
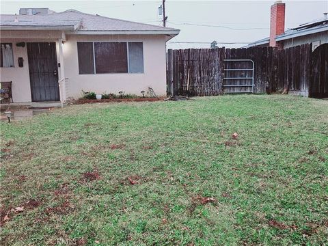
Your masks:
[{"label": "dark security front door of the cream house", "polygon": [[27,43],[32,102],[59,100],[55,42]]}]

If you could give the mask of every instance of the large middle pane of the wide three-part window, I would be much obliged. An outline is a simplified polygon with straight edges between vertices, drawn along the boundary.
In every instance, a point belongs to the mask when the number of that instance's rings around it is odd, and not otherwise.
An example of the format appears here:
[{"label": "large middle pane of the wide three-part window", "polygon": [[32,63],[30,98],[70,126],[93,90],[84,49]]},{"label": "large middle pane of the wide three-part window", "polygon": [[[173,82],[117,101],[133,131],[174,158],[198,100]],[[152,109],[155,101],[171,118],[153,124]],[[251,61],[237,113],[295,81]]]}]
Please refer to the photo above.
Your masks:
[{"label": "large middle pane of the wide three-part window", "polygon": [[96,73],[128,72],[126,42],[95,42]]}]

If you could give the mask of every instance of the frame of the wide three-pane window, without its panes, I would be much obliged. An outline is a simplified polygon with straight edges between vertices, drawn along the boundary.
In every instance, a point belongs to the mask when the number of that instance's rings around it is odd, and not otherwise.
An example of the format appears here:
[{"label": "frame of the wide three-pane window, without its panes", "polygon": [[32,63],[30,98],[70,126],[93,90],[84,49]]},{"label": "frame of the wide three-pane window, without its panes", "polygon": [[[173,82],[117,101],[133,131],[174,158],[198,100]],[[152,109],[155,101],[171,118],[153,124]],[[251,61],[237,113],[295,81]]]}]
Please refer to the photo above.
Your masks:
[{"label": "frame of the wide three-pane window, without its panes", "polygon": [[[88,74],[144,74],[145,73],[145,59],[144,59],[144,49],[143,49],[143,42],[142,41],[122,41],[123,43],[126,44],[126,61],[127,61],[127,66],[128,66],[128,72],[96,72],[96,54],[95,54],[95,49],[94,49],[94,43],[96,42],[120,42],[120,41],[78,41],[79,42],[87,42],[87,43],[92,43],[93,46],[93,55],[94,55],[94,73],[88,73]],[[121,43],[122,43],[121,42]],[[134,42],[139,42],[142,44],[142,72],[130,72],[130,68],[129,68],[129,56],[128,56],[128,44],[129,43],[134,43]],[[79,57],[79,49],[77,46],[77,52],[78,52],[78,57]],[[79,66],[79,61],[78,61],[78,66]],[[79,75],[88,75],[86,73],[80,73],[79,70]]]}]

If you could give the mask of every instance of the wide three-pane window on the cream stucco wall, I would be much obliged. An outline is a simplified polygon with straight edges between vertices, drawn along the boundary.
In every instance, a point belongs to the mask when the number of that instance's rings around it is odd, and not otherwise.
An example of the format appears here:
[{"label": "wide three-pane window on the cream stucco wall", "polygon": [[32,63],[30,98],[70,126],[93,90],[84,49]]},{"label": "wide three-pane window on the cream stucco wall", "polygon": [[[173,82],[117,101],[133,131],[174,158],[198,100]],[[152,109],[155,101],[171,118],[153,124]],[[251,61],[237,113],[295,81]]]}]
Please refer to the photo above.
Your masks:
[{"label": "wide three-pane window on the cream stucco wall", "polygon": [[80,74],[143,72],[142,42],[78,42]]}]

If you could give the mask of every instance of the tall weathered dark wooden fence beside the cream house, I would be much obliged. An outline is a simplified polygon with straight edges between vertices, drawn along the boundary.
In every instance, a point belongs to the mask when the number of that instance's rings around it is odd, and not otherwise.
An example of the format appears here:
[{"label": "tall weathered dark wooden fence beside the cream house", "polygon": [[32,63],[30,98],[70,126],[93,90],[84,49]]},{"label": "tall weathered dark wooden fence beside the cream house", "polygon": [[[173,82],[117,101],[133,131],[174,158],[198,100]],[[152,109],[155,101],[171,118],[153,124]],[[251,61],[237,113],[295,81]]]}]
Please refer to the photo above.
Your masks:
[{"label": "tall weathered dark wooden fence beside the cream house", "polygon": [[[323,66],[327,67],[327,57],[322,55],[320,57],[320,64],[324,63],[321,60],[325,60],[326,65]],[[231,92],[231,90],[223,89],[223,85],[227,83],[225,76],[229,72],[230,74],[234,72],[227,71],[229,69],[226,68],[245,68],[249,65],[227,66],[225,59],[254,61],[254,92],[256,93],[285,91],[299,92],[307,96],[310,77],[316,77],[312,72],[312,46],[310,44],[284,50],[272,47],[169,50],[167,52],[167,94],[213,96]],[[244,78],[250,75],[247,72],[241,72],[238,76],[243,77],[243,80],[238,81],[237,77],[234,80],[236,84],[245,85]],[[328,82],[323,82],[323,84],[326,83]],[[320,86],[323,87],[323,85]],[[247,92],[247,89],[241,91]]]}]

